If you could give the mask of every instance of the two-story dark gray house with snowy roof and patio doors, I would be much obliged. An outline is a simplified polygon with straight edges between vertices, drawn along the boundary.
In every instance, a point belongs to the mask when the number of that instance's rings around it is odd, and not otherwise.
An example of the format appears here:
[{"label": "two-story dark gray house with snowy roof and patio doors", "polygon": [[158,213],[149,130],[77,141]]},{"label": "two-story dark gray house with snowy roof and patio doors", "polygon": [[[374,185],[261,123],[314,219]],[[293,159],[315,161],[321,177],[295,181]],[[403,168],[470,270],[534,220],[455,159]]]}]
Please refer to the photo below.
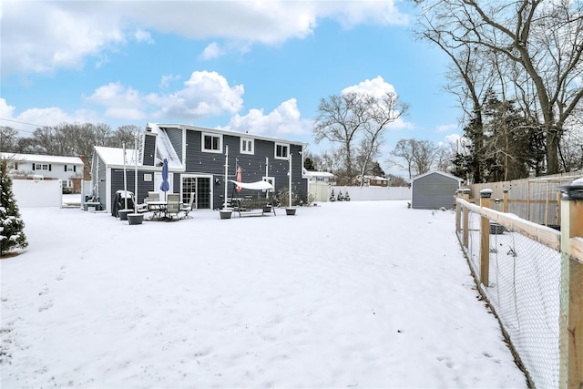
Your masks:
[{"label": "two-story dark gray house with snowy roof and patio doors", "polygon": [[[138,150],[129,145],[125,156],[122,148],[95,147],[91,168],[92,195],[101,204],[101,209],[111,211],[115,194],[124,189],[124,182],[128,190],[134,191],[138,162],[138,203],[144,202],[148,191],[159,191],[163,199],[164,192],[160,190],[162,164],[167,159],[167,193],[179,193],[180,199],[188,202],[190,193],[195,192],[193,208],[213,210],[223,204],[225,185],[228,186],[227,197],[231,196],[234,184],[230,179],[236,179],[238,168],[242,182],[268,180],[276,193],[287,189],[292,155],[293,193],[305,201],[308,182],[302,176],[302,155],[306,146],[302,142],[217,128],[148,123],[138,138]],[[125,181],[124,165],[127,168]],[[259,195],[265,194],[251,189],[236,193],[237,197]]]}]

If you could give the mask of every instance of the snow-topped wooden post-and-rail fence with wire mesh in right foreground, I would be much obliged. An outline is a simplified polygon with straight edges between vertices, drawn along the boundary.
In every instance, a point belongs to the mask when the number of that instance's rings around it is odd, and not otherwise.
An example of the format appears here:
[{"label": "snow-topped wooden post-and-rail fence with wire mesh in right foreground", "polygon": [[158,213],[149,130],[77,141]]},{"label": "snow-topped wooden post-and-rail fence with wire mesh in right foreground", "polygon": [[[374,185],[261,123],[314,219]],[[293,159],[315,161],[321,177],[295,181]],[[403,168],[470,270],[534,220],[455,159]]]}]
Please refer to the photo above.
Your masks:
[{"label": "snow-topped wooden post-and-rail fence with wire mesh in right foreground", "polygon": [[502,210],[491,209],[492,189],[480,191],[479,205],[470,202],[470,189],[459,189],[455,232],[478,290],[495,312],[529,384],[580,389],[583,184],[559,189],[560,231],[507,213],[511,202],[504,195],[496,204]]}]

